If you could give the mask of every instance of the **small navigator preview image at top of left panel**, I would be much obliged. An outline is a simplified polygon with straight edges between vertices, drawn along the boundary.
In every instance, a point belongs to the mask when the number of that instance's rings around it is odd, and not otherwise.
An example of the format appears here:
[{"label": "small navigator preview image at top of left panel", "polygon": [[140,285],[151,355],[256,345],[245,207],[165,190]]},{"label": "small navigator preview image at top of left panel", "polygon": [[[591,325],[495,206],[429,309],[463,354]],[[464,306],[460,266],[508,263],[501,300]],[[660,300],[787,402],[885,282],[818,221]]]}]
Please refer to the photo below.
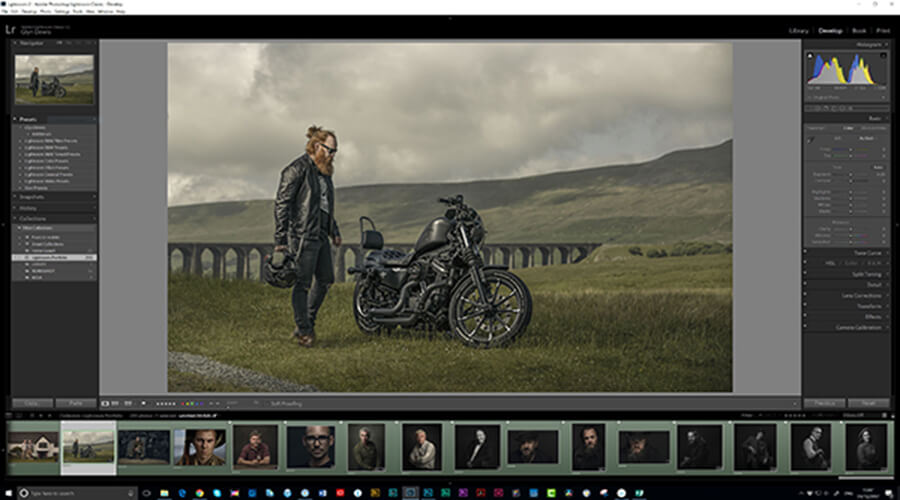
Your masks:
[{"label": "small navigator preview image at top of left panel", "polygon": [[94,56],[16,54],[16,104],[94,104]]}]

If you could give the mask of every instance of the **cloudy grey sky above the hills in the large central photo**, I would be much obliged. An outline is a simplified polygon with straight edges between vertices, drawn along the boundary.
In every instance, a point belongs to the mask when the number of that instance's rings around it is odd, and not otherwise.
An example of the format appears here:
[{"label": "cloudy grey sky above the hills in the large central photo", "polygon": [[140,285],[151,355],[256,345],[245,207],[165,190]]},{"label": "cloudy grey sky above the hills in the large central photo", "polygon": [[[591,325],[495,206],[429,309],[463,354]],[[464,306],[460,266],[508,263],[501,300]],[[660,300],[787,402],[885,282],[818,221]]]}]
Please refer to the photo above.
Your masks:
[{"label": "cloudy grey sky above the hills in the large central photo", "polygon": [[335,184],[649,160],[732,134],[731,44],[169,46],[169,205],[271,198],[311,124]]}]

